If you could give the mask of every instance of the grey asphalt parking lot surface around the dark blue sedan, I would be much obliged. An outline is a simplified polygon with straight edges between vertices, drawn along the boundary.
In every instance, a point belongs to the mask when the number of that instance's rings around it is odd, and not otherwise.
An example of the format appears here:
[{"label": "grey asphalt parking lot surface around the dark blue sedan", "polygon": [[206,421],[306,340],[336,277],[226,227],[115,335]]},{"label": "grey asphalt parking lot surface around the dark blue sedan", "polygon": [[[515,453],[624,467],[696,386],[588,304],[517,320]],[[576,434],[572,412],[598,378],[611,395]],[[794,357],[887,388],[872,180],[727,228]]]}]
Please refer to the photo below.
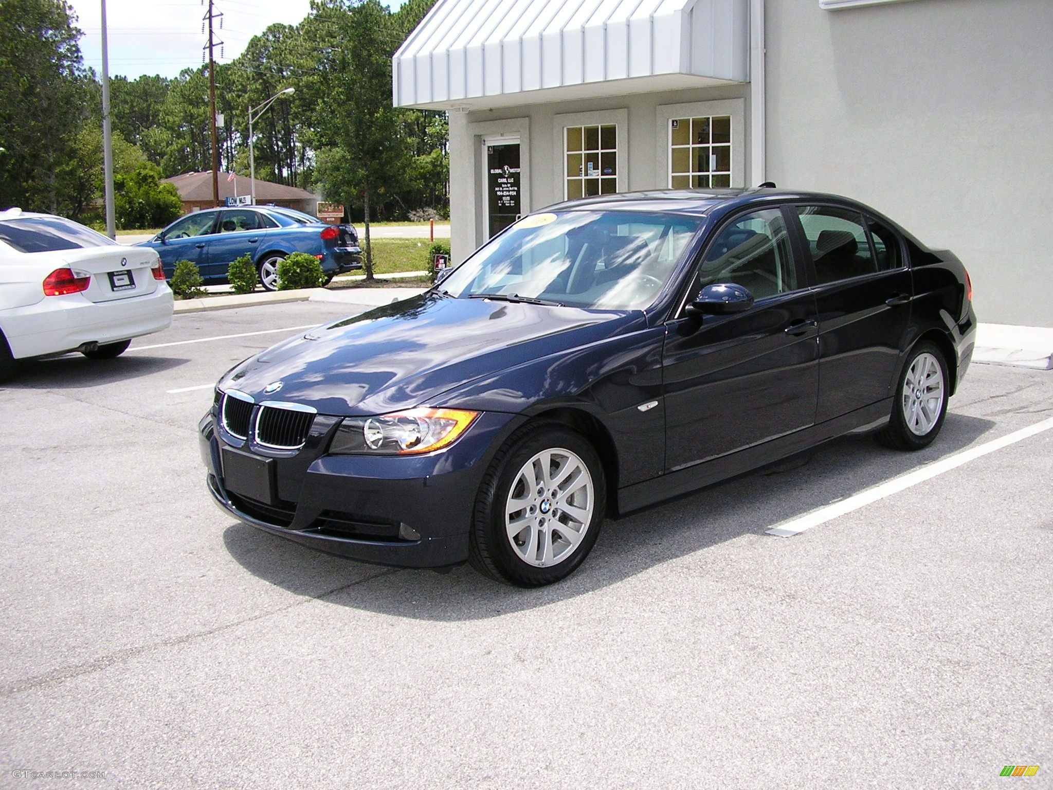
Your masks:
[{"label": "grey asphalt parking lot surface around the dark blue sedan", "polygon": [[1053,372],[973,366],[928,450],[837,441],[608,521],[522,591],[212,503],[212,383],[347,312],[180,315],[0,389],[0,786],[1051,786],[1053,430],[767,531],[1048,420]]}]

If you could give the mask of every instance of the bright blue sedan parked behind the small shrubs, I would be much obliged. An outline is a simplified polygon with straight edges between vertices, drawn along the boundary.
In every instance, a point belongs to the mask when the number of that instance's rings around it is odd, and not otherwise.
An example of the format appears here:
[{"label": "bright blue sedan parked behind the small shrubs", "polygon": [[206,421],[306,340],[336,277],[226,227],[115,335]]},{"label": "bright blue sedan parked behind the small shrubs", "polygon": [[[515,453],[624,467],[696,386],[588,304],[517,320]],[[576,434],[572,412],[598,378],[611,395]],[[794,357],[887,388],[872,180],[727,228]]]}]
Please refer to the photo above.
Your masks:
[{"label": "bright blue sedan parked behind the small shrubs", "polygon": [[194,212],[141,246],[161,256],[165,277],[172,277],[176,261],[190,260],[206,283],[225,282],[227,266],[247,253],[267,291],[278,288],[278,264],[292,253],[314,255],[329,280],[362,268],[358,235],[350,224],[330,225],[309,214],[273,205]]}]

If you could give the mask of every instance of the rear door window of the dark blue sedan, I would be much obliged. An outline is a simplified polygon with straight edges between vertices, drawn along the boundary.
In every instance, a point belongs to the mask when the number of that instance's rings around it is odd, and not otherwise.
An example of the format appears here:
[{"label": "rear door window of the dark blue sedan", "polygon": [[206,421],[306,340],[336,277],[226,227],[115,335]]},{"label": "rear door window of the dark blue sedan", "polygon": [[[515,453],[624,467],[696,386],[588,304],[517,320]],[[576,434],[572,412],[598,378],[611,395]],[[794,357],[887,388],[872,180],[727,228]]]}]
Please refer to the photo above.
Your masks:
[{"label": "rear door window of the dark blue sedan", "polygon": [[877,272],[862,215],[829,205],[798,205],[819,284]]}]

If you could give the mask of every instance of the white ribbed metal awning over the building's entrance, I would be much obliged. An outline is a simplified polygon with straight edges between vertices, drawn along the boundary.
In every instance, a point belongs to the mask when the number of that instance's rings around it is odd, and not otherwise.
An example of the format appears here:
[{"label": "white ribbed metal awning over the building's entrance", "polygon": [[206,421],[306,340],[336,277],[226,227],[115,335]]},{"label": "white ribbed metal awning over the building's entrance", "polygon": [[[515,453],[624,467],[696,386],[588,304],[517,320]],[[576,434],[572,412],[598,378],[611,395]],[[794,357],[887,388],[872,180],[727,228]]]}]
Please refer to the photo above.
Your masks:
[{"label": "white ribbed metal awning over the building's entrance", "polygon": [[396,106],[472,110],[749,80],[748,0],[439,0]]}]

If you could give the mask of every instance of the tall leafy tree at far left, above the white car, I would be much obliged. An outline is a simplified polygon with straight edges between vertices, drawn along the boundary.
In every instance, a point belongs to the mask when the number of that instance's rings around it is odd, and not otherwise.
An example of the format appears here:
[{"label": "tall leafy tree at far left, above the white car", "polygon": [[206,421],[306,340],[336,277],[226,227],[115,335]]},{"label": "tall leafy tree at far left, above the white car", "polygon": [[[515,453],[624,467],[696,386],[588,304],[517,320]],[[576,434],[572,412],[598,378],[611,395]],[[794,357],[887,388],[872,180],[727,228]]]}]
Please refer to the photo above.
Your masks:
[{"label": "tall leafy tree at far left, above the white car", "polygon": [[58,211],[86,106],[76,20],[64,0],[0,2],[0,205]]}]

